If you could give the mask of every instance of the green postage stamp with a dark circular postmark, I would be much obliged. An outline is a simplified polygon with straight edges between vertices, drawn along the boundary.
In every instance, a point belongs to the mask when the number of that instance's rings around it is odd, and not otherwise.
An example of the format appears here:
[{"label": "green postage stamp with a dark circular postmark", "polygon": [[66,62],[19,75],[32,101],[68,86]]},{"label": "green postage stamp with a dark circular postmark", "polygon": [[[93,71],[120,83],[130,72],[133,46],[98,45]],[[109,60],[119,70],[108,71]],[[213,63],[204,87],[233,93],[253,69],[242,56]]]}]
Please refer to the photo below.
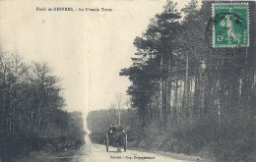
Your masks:
[{"label": "green postage stamp with a dark circular postmark", "polygon": [[248,3],[213,4],[213,46],[249,46]]}]

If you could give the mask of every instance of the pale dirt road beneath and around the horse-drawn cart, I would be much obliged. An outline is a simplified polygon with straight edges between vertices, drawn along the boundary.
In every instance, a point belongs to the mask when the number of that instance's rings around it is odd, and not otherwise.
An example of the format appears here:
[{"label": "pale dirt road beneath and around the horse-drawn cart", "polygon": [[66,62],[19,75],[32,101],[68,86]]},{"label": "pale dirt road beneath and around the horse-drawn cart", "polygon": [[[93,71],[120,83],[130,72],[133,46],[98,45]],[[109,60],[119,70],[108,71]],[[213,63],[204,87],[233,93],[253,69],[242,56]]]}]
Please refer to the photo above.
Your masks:
[{"label": "pale dirt road beneath and around the horse-drawn cart", "polygon": [[106,152],[105,145],[94,144],[89,138],[86,142],[73,157],[72,162],[205,162],[196,157],[169,157],[138,150],[127,149],[124,152],[122,149],[122,152],[117,152],[116,147],[109,147],[109,152]]}]

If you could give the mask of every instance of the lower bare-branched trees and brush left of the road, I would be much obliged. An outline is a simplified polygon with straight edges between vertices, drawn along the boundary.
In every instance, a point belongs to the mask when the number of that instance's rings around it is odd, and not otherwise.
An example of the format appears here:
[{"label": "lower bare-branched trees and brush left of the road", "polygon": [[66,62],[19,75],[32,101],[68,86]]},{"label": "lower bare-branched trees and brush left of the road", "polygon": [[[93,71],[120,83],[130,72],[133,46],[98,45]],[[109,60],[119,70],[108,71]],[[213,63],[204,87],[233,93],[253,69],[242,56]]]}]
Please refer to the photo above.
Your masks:
[{"label": "lower bare-branched trees and brush left of the road", "polygon": [[60,151],[84,142],[82,113],[68,113],[60,79],[46,63],[26,64],[0,49],[0,157]]}]

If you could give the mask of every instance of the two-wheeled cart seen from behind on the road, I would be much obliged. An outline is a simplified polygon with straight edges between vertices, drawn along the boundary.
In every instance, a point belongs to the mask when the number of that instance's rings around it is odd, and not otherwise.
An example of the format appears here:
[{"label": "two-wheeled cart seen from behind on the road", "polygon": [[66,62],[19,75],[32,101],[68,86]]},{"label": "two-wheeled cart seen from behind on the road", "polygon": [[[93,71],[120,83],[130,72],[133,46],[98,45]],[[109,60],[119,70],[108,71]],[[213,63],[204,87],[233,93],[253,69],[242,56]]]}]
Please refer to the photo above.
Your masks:
[{"label": "two-wheeled cart seen from behind on the road", "polygon": [[121,152],[123,148],[124,152],[127,147],[127,134],[121,127],[109,127],[105,135],[106,151],[109,151],[109,146],[117,147],[117,151]]}]

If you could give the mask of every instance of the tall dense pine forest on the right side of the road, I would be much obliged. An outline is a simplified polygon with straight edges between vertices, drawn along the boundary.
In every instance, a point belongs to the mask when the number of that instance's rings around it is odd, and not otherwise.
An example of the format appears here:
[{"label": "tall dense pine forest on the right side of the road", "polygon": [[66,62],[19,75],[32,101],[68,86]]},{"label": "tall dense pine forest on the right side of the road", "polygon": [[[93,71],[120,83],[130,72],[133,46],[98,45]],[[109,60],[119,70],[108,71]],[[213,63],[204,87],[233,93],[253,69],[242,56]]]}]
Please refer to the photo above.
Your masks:
[{"label": "tall dense pine forest on the right side of the road", "polygon": [[134,39],[133,64],[120,72],[131,81],[133,146],[253,161],[256,5],[248,3],[249,47],[213,48],[212,2],[196,0],[180,13],[167,1]]}]

